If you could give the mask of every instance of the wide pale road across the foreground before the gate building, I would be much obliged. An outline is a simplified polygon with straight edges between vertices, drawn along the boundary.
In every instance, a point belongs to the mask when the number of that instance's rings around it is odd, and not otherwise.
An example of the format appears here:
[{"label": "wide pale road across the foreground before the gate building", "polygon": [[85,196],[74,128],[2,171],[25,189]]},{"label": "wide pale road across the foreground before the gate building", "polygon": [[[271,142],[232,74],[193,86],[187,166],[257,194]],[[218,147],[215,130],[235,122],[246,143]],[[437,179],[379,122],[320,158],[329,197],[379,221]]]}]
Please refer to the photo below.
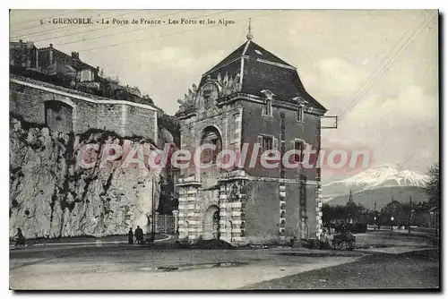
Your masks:
[{"label": "wide pale road across the foreground before the gate building", "polygon": [[[354,252],[303,248],[200,250],[168,245],[148,248],[121,243],[29,246],[10,252],[10,286],[46,290],[381,287],[386,285],[375,286],[377,279],[363,285],[360,278],[367,273],[381,276],[384,269],[387,275],[401,277],[408,268],[409,277],[415,279],[405,276],[409,281],[420,280],[422,286],[435,286],[435,281],[438,282],[434,274],[438,260],[434,260],[434,254],[433,260],[415,258],[418,269],[429,271],[430,280],[422,279],[422,272],[412,268],[412,264],[403,263],[407,258],[402,258],[401,253],[432,247],[426,239],[376,233],[358,235],[358,240],[360,248]],[[413,257],[409,259],[414,261]],[[394,267],[395,263],[400,267]],[[349,280],[336,285],[322,284],[340,278],[340,271],[349,279],[354,269],[361,269],[356,272],[360,273],[356,279],[358,284],[350,285]],[[300,275],[313,276],[297,278]],[[305,281],[300,284],[297,279],[314,281],[314,284],[305,284]],[[390,281],[389,286],[401,286],[399,280]]]}]

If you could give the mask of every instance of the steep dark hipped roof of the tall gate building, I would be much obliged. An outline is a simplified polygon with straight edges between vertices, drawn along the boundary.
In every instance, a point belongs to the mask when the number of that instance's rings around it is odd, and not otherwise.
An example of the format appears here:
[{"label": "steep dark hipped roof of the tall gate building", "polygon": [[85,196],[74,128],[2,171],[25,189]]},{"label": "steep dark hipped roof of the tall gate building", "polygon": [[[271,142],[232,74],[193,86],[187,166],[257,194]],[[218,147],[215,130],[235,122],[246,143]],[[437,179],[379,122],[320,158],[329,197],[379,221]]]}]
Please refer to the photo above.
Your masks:
[{"label": "steep dark hipped roof of the tall gate building", "polygon": [[[241,63],[242,59],[244,59],[243,64]],[[241,70],[242,65],[243,70]],[[204,73],[199,88],[209,76],[211,79],[215,79],[218,73],[221,75],[228,73],[228,76],[234,78],[238,73],[242,74],[242,92],[263,96],[262,90],[271,90],[275,94],[276,100],[293,102],[292,98],[302,97],[311,107],[327,110],[306,92],[294,66],[250,39]]]}]

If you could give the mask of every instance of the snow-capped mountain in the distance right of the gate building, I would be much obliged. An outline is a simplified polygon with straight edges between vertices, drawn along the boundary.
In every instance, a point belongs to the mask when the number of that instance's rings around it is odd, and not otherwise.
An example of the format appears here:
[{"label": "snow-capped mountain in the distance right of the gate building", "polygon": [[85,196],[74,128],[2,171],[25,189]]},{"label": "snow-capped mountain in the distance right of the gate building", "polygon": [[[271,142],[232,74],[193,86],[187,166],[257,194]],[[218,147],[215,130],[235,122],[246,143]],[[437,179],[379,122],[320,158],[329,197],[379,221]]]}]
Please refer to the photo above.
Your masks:
[{"label": "snow-capped mountain in the distance right of the gate building", "polygon": [[411,170],[402,170],[401,167],[385,164],[367,168],[357,175],[349,176],[342,180],[323,184],[323,196],[329,199],[331,197],[348,194],[350,190],[352,192],[364,192],[384,187],[422,187],[427,179],[427,175],[422,175]]}]

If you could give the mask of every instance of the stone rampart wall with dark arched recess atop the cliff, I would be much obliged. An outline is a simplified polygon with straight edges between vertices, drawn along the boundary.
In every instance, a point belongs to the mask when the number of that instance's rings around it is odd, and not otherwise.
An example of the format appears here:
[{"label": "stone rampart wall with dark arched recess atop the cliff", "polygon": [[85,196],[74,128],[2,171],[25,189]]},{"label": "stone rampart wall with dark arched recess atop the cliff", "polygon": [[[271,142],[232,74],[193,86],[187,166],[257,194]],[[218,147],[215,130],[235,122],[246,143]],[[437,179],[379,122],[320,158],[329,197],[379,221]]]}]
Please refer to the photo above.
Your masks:
[{"label": "stone rampart wall with dark arched recess atop the cliff", "polygon": [[12,76],[10,79],[10,113],[28,123],[47,124],[50,130],[58,132],[78,134],[98,129],[116,132],[122,137],[141,136],[157,142],[157,110],[154,107],[100,98],[23,77]]}]

